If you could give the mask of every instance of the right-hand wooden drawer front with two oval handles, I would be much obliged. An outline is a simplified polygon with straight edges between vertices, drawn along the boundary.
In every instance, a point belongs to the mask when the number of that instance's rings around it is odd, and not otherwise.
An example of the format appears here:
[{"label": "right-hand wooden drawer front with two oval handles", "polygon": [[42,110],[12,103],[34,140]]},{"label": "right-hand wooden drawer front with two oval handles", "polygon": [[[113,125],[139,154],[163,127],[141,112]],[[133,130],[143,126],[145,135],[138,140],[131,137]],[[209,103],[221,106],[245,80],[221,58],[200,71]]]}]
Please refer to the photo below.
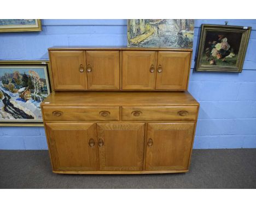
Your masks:
[{"label": "right-hand wooden drawer front with two oval handles", "polygon": [[196,106],[122,107],[122,120],[196,120]]}]

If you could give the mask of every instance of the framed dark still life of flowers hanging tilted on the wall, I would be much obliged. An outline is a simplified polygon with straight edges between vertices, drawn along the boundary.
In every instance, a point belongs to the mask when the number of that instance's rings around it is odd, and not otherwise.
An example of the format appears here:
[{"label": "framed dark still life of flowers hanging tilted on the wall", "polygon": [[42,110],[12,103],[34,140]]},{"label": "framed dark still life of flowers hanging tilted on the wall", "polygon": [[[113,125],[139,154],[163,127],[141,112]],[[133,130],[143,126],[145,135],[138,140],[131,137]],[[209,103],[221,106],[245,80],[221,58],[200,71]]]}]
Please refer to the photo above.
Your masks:
[{"label": "framed dark still life of flowers hanging tilted on the wall", "polygon": [[251,29],[202,25],[196,71],[241,72]]}]

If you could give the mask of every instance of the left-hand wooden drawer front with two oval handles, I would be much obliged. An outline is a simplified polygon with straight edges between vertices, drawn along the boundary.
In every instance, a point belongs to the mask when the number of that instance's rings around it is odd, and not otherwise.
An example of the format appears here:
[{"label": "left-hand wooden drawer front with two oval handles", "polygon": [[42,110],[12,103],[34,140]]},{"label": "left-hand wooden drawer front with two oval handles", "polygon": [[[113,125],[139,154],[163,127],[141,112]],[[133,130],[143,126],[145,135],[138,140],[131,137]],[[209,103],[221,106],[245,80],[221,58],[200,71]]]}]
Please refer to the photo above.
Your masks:
[{"label": "left-hand wooden drawer front with two oval handles", "polygon": [[119,107],[43,107],[46,121],[118,121]]}]

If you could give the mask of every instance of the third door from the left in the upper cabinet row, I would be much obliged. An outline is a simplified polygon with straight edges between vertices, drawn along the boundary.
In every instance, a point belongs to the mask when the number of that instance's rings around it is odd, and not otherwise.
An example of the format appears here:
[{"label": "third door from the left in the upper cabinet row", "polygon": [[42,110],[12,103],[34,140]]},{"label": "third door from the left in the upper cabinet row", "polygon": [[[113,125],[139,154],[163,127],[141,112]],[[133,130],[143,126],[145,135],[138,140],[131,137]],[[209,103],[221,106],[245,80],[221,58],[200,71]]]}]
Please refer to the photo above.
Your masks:
[{"label": "third door from the left in the upper cabinet row", "polygon": [[155,51],[123,51],[122,89],[155,89]]}]

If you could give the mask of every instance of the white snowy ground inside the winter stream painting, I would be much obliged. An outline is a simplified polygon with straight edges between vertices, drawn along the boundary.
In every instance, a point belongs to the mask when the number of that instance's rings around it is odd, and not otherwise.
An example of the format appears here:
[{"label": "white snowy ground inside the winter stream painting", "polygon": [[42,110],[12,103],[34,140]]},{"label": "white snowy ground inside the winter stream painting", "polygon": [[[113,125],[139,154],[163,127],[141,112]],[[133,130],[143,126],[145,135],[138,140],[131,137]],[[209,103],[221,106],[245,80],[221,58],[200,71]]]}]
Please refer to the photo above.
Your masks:
[{"label": "white snowy ground inside the winter stream painting", "polygon": [[[10,102],[14,105],[14,107],[21,109],[28,115],[32,115],[35,120],[42,119],[40,102],[34,101],[33,99],[30,99],[28,101],[20,99],[18,93],[11,93],[9,90],[6,90],[3,87],[2,82],[0,82],[0,90],[11,97]],[[15,119],[10,113],[5,112],[3,107],[3,100],[0,100],[0,119]]]}]

